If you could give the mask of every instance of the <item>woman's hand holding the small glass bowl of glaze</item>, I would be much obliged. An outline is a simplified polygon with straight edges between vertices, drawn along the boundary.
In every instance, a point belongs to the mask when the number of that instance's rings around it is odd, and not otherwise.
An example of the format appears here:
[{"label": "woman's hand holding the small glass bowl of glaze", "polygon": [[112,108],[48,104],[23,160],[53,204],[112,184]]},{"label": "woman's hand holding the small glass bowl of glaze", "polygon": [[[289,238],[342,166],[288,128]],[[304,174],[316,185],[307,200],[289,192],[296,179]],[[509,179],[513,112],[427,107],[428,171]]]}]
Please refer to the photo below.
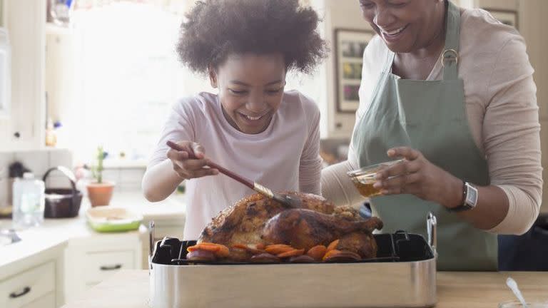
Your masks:
[{"label": "woman's hand holding the small glass bowl of glaze", "polygon": [[373,187],[383,195],[412,194],[445,207],[462,204],[462,180],[430,163],[420,151],[400,147],[387,154],[404,160],[377,173]]}]

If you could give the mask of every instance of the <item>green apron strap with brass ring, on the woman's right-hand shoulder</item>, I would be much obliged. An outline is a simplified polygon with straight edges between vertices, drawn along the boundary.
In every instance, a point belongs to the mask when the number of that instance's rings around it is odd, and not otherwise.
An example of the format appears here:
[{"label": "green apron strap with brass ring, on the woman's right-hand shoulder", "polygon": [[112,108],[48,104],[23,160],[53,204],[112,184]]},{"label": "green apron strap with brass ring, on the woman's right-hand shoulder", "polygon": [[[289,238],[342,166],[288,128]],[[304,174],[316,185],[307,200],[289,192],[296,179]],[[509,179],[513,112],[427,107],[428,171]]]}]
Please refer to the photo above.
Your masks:
[{"label": "green apron strap with brass ring, on the woman's right-hand shoulder", "polygon": [[455,80],[458,76],[460,43],[460,9],[447,0],[447,24],[445,26],[445,49],[442,53],[443,79]]}]

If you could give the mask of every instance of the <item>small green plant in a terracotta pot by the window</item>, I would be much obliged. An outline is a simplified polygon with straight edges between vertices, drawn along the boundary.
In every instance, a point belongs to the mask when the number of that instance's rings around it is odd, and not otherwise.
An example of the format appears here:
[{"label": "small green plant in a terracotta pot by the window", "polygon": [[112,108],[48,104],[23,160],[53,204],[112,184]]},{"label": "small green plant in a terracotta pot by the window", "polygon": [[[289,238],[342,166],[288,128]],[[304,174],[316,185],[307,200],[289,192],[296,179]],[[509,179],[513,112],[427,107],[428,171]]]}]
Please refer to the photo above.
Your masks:
[{"label": "small green plant in a terracotta pot by the window", "polygon": [[95,180],[87,185],[88,197],[92,207],[108,205],[111,202],[114,183],[103,180],[103,160],[106,153],[102,146],[98,146],[96,162],[91,166],[91,172]]}]

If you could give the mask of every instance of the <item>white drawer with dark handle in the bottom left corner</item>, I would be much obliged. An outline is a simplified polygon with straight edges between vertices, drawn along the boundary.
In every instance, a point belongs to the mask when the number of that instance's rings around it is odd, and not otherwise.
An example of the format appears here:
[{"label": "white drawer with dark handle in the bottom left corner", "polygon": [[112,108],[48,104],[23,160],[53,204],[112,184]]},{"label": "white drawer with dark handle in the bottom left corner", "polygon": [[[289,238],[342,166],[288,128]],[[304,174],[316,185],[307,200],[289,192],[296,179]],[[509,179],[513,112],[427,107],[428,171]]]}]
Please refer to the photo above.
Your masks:
[{"label": "white drawer with dark handle in the bottom left corner", "polygon": [[48,262],[0,282],[0,307],[26,307],[54,290],[55,266]]}]

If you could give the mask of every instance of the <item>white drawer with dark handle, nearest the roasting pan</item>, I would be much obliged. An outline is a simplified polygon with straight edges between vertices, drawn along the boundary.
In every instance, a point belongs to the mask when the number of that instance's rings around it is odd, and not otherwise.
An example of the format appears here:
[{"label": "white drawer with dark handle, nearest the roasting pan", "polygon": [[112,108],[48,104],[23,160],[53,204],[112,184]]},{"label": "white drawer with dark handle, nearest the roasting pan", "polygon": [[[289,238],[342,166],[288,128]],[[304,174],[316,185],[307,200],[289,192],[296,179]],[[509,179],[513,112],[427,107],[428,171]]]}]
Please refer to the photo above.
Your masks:
[{"label": "white drawer with dark handle, nearest the roasting pan", "polygon": [[86,284],[97,284],[113,272],[134,269],[135,252],[133,250],[88,252],[83,266],[86,268]]}]

